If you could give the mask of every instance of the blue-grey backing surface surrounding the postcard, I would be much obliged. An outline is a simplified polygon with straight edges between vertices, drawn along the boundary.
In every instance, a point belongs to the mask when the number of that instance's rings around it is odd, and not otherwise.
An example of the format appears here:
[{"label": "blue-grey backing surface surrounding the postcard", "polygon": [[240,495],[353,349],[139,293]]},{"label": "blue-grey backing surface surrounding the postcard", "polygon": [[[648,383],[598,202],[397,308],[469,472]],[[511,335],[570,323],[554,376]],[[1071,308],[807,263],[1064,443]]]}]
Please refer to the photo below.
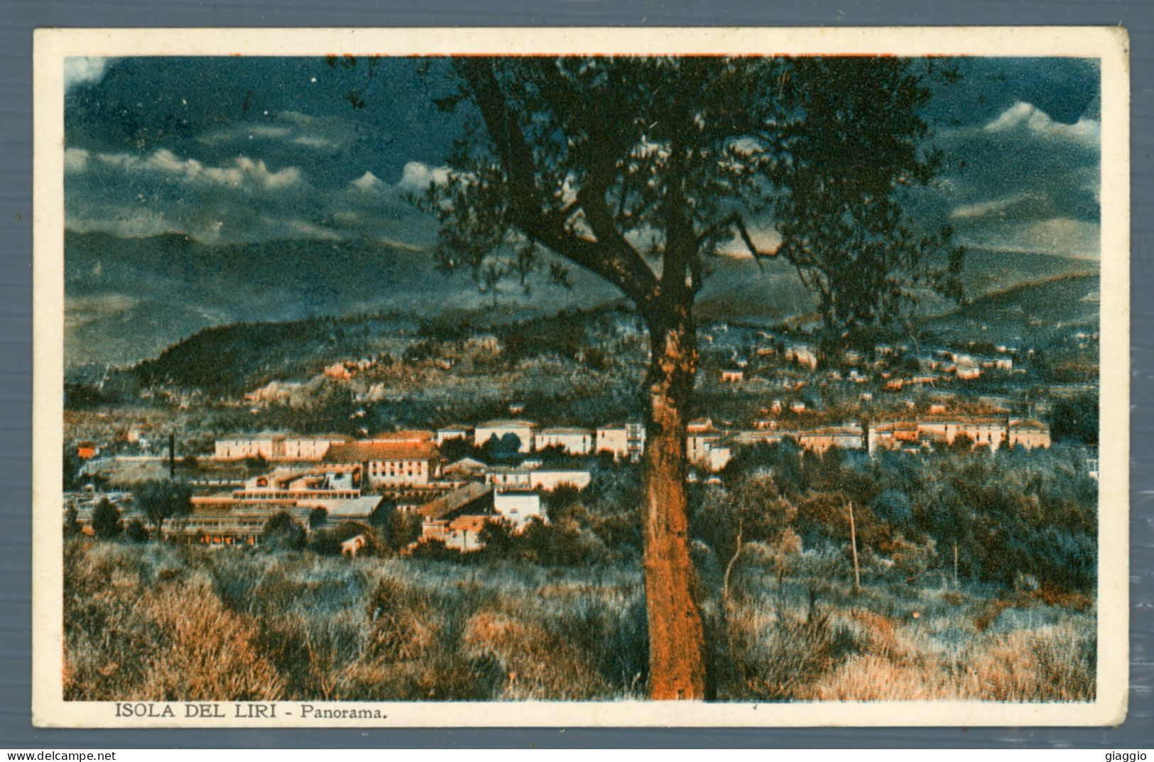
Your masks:
[{"label": "blue-grey backing surface surrounding the postcard", "polygon": [[[1130,715],[1116,729],[65,731],[30,723],[32,29],[1122,24],[1132,143]],[[1154,746],[1154,3],[1110,0],[0,0],[0,748]],[[435,709],[433,709],[435,711]]]}]

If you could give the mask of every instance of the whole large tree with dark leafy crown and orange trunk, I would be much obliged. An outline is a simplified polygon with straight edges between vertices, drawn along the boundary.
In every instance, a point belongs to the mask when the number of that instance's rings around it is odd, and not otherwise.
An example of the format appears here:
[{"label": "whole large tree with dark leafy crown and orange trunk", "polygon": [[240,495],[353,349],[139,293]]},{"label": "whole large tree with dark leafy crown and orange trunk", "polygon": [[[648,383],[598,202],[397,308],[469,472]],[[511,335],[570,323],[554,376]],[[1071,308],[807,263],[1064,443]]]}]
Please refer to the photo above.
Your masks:
[{"label": "whole large tree with dark leafy crown and orange trunk", "polygon": [[[949,229],[907,219],[931,180],[931,64],[897,58],[455,58],[464,125],[429,186],[437,263],[484,287],[577,266],[635,305],[645,381],[644,572],[653,698],[705,692],[689,555],[694,301],[724,247],[790,262],[826,336],[956,294]],[[775,245],[774,245],[775,244]]]}]

